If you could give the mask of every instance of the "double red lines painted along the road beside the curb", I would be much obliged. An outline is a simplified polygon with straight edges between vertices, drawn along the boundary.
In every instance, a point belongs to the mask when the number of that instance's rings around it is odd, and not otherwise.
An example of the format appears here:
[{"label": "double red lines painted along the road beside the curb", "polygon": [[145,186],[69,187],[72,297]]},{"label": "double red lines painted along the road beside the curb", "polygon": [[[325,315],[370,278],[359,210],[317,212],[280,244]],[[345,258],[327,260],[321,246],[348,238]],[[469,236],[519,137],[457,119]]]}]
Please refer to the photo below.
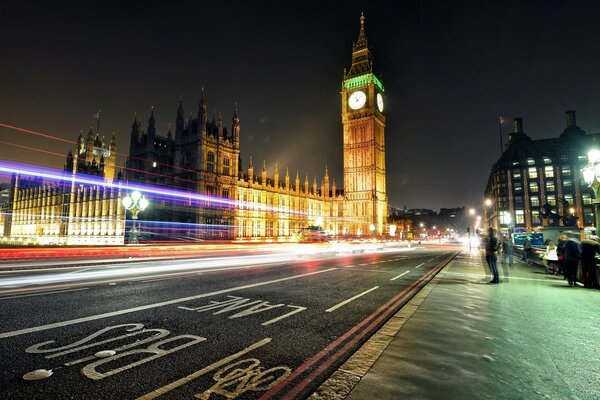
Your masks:
[{"label": "double red lines painted along the road beside the curb", "polygon": [[425,275],[421,276],[419,279],[414,281],[410,286],[406,287],[404,290],[402,290],[400,293],[394,296],[390,301],[379,307],[375,312],[373,312],[371,315],[359,322],[348,332],[344,333],[334,342],[331,342],[329,345],[327,345],[327,347],[325,347],[323,350],[319,351],[309,360],[305,361],[296,370],[294,370],[294,372],[292,372],[284,381],[280,382],[277,386],[271,388],[271,390],[263,394],[260,400],[269,399],[274,395],[278,394],[279,392],[283,391],[283,389],[285,389],[294,379],[296,379],[298,376],[314,367],[330,352],[332,352],[344,341],[346,341],[348,338],[354,335],[352,339],[348,341],[348,343],[346,343],[342,348],[340,348],[333,355],[327,358],[325,362],[323,362],[310,375],[298,382],[296,385],[292,386],[290,390],[288,390],[282,397],[283,399],[296,398],[296,396],[300,392],[302,392],[306,388],[306,386],[308,386],[316,377],[325,372],[327,368],[331,366],[331,364],[343,357],[350,349],[352,349],[353,346],[356,345],[356,343],[362,340],[365,336],[371,334],[372,330],[375,329],[381,323],[381,321],[387,319],[391,313],[396,312],[398,307],[402,306],[404,303],[410,300],[423,286],[425,286],[435,275],[437,275],[437,273],[440,272],[442,268],[444,268],[454,257],[456,257],[457,254],[458,253],[453,254],[444,261],[442,261],[435,268],[431,269]]}]

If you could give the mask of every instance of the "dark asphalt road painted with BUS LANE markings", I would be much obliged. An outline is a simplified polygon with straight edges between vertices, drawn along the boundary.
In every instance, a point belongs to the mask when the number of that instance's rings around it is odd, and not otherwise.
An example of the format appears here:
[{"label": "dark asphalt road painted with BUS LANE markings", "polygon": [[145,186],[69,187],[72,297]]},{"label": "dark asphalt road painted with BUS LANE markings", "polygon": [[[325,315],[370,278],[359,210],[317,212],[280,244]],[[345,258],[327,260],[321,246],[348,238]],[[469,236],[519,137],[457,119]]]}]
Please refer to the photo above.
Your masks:
[{"label": "dark asphalt road painted with BUS LANE markings", "polygon": [[[2,398],[305,398],[454,254],[391,248],[3,273]],[[38,369],[52,375],[24,379]]]}]

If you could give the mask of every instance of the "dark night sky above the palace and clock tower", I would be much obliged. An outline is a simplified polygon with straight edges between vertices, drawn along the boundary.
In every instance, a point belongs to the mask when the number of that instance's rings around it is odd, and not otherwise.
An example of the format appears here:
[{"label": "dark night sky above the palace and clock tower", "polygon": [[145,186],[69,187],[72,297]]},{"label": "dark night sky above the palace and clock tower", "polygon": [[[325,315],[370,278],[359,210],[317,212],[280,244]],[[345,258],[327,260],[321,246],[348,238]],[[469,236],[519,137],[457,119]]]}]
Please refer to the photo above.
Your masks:
[{"label": "dark night sky above the palace and clock tower", "polygon": [[[123,4],[122,4],[123,3]],[[126,3],[126,4],[125,4]],[[360,12],[386,87],[391,205],[471,206],[499,156],[498,115],[533,138],[560,134],[564,111],[600,131],[596,2],[0,2],[0,122],[75,140],[101,130],[126,153],[134,112],[159,133],[179,97],[230,125],[242,159],[342,186],[342,72]],[[504,127],[505,136],[508,126]],[[0,128],[0,159],[62,166],[68,143]],[[121,157],[119,164],[124,158]]]}]

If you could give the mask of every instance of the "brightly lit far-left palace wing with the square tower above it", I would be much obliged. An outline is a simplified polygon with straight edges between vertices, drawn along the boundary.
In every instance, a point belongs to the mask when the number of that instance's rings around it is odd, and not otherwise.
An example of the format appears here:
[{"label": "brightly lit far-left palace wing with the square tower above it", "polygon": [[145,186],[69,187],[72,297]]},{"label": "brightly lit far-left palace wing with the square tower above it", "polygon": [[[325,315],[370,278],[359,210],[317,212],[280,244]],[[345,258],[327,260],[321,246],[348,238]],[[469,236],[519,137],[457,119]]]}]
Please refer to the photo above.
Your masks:
[{"label": "brightly lit far-left palace wing with the square tower above it", "polygon": [[[120,191],[103,185],[115,178],[116,139],[110,144],[90,129],[65,162],[64,182],[13,175],[4,236],[15,243],[118,245],[125,218]],[[98,184],[69,183],[85,175]]]}]

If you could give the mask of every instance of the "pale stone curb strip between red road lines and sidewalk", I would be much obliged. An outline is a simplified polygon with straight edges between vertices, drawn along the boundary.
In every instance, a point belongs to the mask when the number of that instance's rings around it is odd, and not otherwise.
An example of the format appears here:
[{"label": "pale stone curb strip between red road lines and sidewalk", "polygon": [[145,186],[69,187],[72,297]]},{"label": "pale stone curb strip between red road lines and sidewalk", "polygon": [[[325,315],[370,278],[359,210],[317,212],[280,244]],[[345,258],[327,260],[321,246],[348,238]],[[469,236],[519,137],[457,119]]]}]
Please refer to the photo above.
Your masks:
[{"label": "pale stone curb strip between red road lines and sidewalk", "polygon": [[406,322],[419,309],[438,282],[456,262],[450,260],[425,286],[421,288],[396,314],[367,340],[337,371],[335,371],[313,394],[310,400],[345,399],[398,335]]}]

